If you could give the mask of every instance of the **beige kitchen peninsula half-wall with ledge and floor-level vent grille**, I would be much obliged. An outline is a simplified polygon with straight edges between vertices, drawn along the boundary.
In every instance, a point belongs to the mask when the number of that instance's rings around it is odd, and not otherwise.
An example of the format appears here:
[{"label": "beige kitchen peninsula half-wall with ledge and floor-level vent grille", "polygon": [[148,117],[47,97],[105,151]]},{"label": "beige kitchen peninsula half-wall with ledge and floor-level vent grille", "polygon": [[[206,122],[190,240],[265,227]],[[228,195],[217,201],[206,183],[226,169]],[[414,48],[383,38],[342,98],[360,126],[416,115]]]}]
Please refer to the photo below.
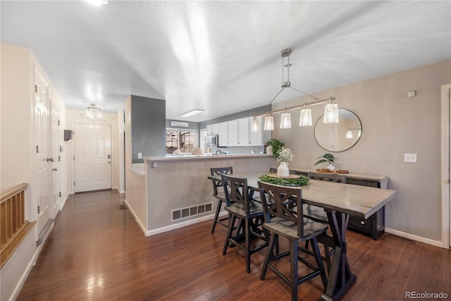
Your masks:
[{"label": "beige kitchen peninsula half-wall with ledge and floor-level vent grille", "polygon": [[[235,173],[267,173],[271,154],[147,156],[132,164],[126,204],[145,235],[212,219],[216,209],[210,168],[233,166]],[[215,202],[214,202],[215,201]]]}]

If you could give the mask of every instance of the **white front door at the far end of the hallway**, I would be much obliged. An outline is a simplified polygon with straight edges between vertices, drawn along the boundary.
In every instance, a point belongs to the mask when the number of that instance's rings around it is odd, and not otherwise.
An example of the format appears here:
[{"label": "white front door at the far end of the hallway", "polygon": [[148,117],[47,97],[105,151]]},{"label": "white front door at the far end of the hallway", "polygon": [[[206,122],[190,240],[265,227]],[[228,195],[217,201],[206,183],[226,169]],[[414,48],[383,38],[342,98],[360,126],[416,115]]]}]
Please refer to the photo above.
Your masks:
[{"label": "white front door at the far end of the hallway", "polygon": [[75,192],[111,189],[111,126],[75,124]]}]

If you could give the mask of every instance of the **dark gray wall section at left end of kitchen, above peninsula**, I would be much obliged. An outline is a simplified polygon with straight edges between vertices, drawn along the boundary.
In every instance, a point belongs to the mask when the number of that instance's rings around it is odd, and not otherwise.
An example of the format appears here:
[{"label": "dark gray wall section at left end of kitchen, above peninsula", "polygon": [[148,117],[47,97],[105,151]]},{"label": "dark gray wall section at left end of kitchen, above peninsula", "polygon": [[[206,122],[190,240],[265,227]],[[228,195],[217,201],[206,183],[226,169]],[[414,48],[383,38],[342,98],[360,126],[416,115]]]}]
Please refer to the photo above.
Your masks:
[{"label": "dark gray wall section at left end of kitchen, above peninsula", "polygon": [[143,163],[142,156],[164,156],[166,152],[166,102],[132,95],[132,163]]}]

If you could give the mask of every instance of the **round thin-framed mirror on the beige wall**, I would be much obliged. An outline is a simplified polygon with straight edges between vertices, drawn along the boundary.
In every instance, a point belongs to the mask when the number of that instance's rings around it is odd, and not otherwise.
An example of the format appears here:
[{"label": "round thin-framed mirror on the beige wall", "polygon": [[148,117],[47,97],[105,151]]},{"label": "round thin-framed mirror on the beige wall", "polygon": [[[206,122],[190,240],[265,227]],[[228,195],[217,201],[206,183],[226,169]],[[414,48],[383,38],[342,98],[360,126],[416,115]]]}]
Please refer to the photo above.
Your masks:
[{"label": "round thin-framed mirror on the beige wall", "polygon": [[330,152],[342,152],[353,147],[362,135],[362,123],[352,111],[338,109],[338,123],[324,123],[324,114],[315,124],[315,139]]}]

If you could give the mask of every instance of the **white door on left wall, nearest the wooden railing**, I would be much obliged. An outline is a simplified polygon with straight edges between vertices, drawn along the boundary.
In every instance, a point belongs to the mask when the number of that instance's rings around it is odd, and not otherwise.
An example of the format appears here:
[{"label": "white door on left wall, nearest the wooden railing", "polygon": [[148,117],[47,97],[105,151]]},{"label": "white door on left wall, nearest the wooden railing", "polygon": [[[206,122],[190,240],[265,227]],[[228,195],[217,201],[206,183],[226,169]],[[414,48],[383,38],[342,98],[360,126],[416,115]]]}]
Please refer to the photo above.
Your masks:
[{"label": "white door on left wall, nearest the wooden railing", "polygon": [[49,98],[47,84],[35,70],[35,137],[36,137],[36,199],[37,226],[41,231],[51,218],[49,151]]}]

